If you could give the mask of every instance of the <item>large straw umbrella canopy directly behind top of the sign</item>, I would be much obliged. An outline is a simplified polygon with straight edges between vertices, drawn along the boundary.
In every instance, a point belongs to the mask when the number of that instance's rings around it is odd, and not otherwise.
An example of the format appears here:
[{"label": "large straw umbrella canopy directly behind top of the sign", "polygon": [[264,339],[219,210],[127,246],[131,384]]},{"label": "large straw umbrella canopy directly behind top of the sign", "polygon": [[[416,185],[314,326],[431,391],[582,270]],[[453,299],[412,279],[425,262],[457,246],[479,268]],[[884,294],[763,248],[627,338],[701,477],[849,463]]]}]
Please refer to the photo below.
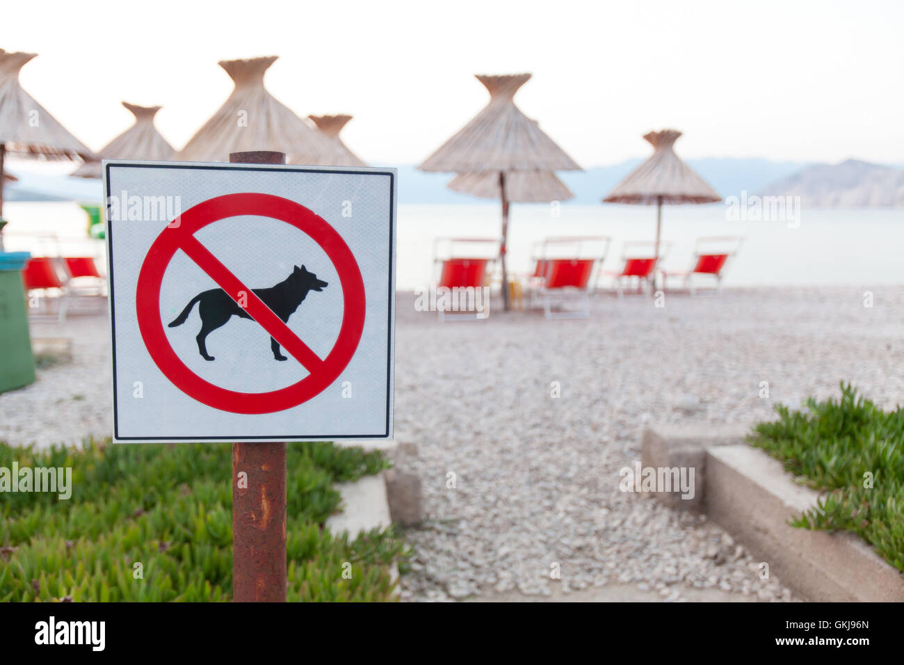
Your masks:
[{"label": "large straw umbrella canopy directly behind top of the sign", "polygon": [[219,62],[235,89],[174,159],[228,162],[231,152],[275,150],[288,162],[328,164],[334,147],[264,87],[264,72],[277,56]]}]

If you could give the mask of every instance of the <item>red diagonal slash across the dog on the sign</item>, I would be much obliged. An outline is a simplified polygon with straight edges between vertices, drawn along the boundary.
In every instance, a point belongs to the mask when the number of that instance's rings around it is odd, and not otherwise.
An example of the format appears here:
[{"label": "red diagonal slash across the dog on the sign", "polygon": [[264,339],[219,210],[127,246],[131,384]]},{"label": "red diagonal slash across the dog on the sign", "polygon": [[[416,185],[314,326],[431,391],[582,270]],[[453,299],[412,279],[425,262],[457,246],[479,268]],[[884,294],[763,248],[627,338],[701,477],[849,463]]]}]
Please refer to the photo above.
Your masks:
[{"label": "red diagonal slash across the dog on the sign", "polygon": [[324,361],[311,350],[301,338],[283,323],[282,319],[269,309],[257,294],[241,283],[238,277],[224,266],[210,250],[204,247],[197,238],[185,233],[179,239],[179,248],[188,254],[188,257],[198,264],[202,271],[206,272],[229,297],[241,307],[241,294],[246,296],[244,306],[251,318],[257,321],[271,337],[276,339],[305,369],[311,374],[323,368]]}]

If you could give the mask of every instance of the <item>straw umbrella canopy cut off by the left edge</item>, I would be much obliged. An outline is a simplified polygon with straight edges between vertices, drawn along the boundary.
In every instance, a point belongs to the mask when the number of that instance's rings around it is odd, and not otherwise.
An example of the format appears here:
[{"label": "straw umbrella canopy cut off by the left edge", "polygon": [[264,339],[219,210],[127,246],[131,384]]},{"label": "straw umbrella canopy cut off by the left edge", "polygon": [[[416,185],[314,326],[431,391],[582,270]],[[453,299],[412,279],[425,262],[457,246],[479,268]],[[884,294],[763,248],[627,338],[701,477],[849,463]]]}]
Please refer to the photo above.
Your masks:
[{"label": "straw umbrella canopy cut off by the left edge", "polygon": [[[36,55],[0,49],[0,175],[7,152],[39,159],[95,157],[19,83],[19,71]],[[3,216],[4,181],[5,178],[0,177],[0,218]]]}]

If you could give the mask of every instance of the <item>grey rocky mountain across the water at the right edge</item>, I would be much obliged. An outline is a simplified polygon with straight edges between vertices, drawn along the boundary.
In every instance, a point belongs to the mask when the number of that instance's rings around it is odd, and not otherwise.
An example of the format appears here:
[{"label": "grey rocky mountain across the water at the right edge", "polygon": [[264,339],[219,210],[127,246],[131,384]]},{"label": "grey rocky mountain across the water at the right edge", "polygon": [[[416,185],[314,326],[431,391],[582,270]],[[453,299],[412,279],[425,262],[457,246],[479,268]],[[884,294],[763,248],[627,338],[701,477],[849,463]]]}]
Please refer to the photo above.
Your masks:
[{"label": "grey rocky mountain across the water at the right edge", "polygon": [[904,207],[904,169],[848,159],[814,164],[763,188],[762,195],[800,196],[819,207]]}]

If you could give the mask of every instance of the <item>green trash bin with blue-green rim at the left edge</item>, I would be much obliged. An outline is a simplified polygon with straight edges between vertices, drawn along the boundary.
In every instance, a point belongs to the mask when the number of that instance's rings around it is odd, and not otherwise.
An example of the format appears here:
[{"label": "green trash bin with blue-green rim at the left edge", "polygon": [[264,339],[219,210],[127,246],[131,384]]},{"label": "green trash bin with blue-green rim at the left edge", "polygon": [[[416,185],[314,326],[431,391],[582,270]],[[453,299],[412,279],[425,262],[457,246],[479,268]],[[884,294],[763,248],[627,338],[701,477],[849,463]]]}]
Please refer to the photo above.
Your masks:
[{"label": "green trash bin with blue-green rim at the left edge", "polygon": [[28,252],[0,252],[0,393],[34,381],[22,271]]}]

